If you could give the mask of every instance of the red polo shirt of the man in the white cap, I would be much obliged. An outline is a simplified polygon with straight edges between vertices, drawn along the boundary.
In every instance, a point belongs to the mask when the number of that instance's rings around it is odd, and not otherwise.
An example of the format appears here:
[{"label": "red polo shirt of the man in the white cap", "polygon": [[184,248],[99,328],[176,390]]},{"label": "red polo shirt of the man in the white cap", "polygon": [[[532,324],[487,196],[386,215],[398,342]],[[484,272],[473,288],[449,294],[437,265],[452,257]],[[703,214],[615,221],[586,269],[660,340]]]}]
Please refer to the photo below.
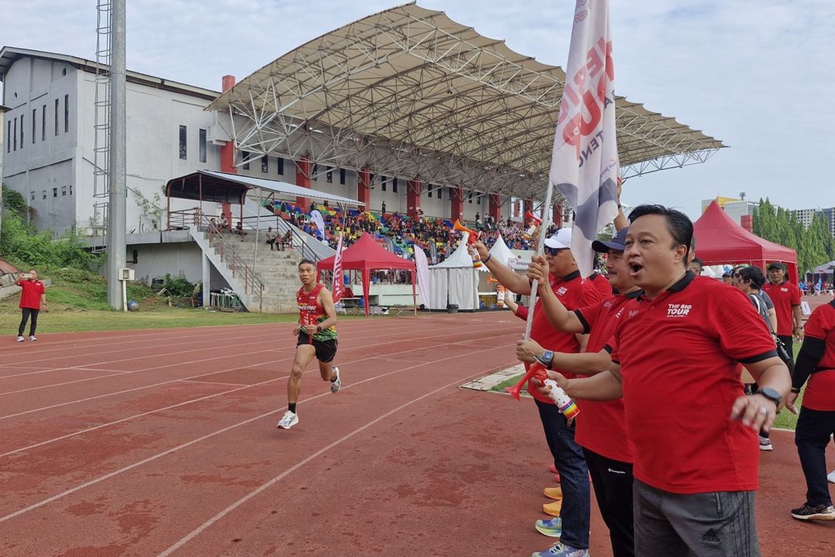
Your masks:
[{"label": "red polo shirt of the man in the white cap", "polygon": [[[569,311],[600,301],[600,292],[597,291],[591,281],[584,281],[579,271],[574,271],[560,279],[549,275],[549,279],[551,290]],[[519,306],[516,310],[516,316],[519,319],[527,320],[528,308]],[[579,342],[577,342],[577,337],[574,336],[573,332],[560,332],[551,327],[548,317],[545,316],[545,311],[542,309],[542,300],[539,297],[536,299],[536,306],[534,306],[534,322],[531,324],[530,339],[539,342],[539,345],[546,350],[568,353],[579,352]],[[528,369],[530,364],[525,362],[524,367]],[[556,371],[562,373],[565,377],[574,377],[573,373],[564,372],[560,369]],[[528,383],[528,392],[541,403],[554,403],[550,397],[541,394],[539,389],[530,383]]]}]

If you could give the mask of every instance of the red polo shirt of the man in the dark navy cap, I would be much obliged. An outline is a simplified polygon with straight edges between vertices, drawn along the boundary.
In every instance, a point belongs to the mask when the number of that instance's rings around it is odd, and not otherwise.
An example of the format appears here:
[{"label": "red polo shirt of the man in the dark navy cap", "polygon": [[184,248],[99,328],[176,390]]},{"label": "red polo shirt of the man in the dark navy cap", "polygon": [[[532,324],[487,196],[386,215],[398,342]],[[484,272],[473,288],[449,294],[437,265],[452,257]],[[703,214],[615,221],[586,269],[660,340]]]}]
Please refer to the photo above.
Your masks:
[{"label": "red polo shirt of the man in the dark navy cap", "polygon": [[[585,351],[594,353],[604,349],[625,316],[624,306],[640,295],[640,291],[626,295],[612,296],[593,306],[574,310],[584,332],[589,333]],[[605,403],[578,400],[580,416],[574,430],[574,440],[590,451],[606,458],[631,463],[635,460],[635,446],[626,433],[626,418],[623,398]]]}]

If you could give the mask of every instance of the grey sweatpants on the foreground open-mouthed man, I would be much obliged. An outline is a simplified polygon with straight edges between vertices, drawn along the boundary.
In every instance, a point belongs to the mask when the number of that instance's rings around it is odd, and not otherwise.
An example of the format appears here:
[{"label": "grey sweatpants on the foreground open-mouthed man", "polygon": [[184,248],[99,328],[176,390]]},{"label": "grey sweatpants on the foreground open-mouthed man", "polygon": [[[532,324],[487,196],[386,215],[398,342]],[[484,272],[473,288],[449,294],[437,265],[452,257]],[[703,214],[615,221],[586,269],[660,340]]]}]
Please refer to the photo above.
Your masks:
[{"label": "grey sweatpants on the foreground open-mouthed man", "polygon": [[754,493],[673,494],[635,479],[635,555],[760,557]]}]

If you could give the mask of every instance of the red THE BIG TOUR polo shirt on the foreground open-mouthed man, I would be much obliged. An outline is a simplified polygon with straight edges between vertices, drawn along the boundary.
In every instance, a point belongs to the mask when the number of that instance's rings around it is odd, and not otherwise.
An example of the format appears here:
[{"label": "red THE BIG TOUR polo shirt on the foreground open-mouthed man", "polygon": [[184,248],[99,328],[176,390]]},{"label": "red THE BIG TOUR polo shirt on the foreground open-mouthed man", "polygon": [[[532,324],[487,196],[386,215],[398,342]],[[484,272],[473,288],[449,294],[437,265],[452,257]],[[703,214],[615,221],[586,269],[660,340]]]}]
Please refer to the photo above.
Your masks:
[{"label": "red THE BIG TOUR polo shirt on the foreground open-mouthed man", "polygon": [[620,362],[635,478],[676,494],[757,489],[757,433],[730,419],[744,394],[737,362],[777,352],[747,296],[688,271],[623,311],[612,359]]}]

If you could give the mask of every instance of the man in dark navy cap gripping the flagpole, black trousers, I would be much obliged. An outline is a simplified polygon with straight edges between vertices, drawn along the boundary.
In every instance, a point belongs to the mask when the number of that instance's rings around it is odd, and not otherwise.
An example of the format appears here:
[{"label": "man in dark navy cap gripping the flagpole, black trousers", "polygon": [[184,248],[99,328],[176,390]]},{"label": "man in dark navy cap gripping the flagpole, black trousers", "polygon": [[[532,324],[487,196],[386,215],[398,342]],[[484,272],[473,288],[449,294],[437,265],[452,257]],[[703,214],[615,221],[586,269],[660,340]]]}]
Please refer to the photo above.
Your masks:
[{"label": "man in dark navy cap gripping the flagpole, black trousers", "polygon": [[[600,351],[604,350],[606,342],[625,316],[623,307],[640,295],[640,289],[632,281],[624,257],[624,242],[628,231],[628,228],[624,228],[611,241],[592,243],[595,251],[609,254],[606,271],[615,296],[569,311],[548,288],[539,289],[545,314],[555,329],[590,333],[585,353],[551,352],[549,347],[544,349],[538,342],[519,341],[516,343],[516,355],[520,360],[534,362],[537,359],[546,367],[557,367],[579,375],[595,375],[609,369],[609,354]],[[529,278],[541,280],[547,273],[548,263],[543,258],[531,262]],[[626,433],[623,400],[577,400],[577,406],[580,414],[575,440],[583,447],[600,514],[609,527],[612,551],[615,557],[634,557],[632,463],[635,448]],[[538,520],[535,528],[545,535],[554,535],[555,520]]]}]

